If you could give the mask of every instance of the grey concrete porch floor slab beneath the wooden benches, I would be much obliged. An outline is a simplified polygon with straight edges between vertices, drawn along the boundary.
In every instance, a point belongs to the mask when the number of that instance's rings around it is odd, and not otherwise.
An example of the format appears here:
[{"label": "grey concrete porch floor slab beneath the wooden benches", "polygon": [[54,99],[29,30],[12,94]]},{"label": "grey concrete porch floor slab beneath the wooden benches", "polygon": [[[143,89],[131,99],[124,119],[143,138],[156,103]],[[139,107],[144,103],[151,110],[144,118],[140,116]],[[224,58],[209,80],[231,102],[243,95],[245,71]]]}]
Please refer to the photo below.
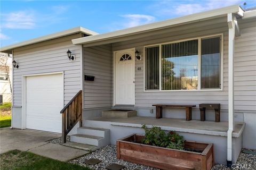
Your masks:
[{"label": "grey concrete porch floor slab beneath the wooden benches", "polygon": [[[88,119],[90,121],[102,121],[110,122],[115,126],[126,126],[141,128],[142,124],[146,124],[148,128],[150,126],[159,126],[166,131],[188,132],[197,134],[208,134],[227,136],[228,122],[214,122],[214,121],[198,121],[191,120],[186,121],[179,118],[154,118],[154,117],[142,117],[134,116],[127,118],[115,118],[115,117],[93,117]],[[235,122],[233,137],[240,137],[243,133],[245,123]]]}]

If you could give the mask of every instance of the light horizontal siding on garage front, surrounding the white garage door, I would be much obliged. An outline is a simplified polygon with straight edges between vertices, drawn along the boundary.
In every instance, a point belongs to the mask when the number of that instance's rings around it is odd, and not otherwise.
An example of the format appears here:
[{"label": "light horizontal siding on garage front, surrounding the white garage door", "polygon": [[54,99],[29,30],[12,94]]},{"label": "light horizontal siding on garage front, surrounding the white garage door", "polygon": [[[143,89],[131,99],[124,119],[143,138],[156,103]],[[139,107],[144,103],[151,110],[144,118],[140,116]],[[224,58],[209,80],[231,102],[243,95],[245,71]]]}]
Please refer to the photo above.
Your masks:
[{"label": "light horizontal siding on garage front, surrounding the white garage door", "polygon": [[[82,46],[75,46],[71,42],[71,39],[81,36],[78,33],[14,50],[14,60],[19,65],[19,69],[14,69],[14,106],[21,106],[22,75],[63,72],[65,105],[82,89]],[[74,61],[68,60],[68,49],[75,55]]]}]

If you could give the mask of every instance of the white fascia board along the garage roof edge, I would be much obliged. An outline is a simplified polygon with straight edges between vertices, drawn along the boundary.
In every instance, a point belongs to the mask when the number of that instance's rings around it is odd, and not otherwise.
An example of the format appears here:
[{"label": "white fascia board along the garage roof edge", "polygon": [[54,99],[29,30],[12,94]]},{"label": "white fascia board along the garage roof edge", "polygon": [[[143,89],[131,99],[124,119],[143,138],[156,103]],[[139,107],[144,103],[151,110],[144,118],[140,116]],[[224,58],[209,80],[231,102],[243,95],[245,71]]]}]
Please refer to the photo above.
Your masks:
[{"label": "white fascia board along the garage roof edge", "polygon": [[35,38],[35,39],[30,39],[30,40],[27,40],[27,41],[23,41],[21,43],[17,43],[17,44],[13,44],[13,45],[10,45],[10,46],[2,47],[0,49],[0,52],[11,53],[12,49],[14,49],[14,48],[27,46],[27,45],[31,45],[31,44],[35,44],[35,43],[41,43],[43,41],[73,35],[74,33],[79,33],[79,32],[85,33],[86,35],[90,35],[90,36],[98,34],[97,32],[93,32],[93,31],[85,29],[83,27],[75,27],[75,28],[71,28],[71,29],[68,29],[68,30],[65,30],[65,31],[52,33],[52,34],[47,35],[47,36],[43,36],[43,37],[39,37],[39,38]]}]

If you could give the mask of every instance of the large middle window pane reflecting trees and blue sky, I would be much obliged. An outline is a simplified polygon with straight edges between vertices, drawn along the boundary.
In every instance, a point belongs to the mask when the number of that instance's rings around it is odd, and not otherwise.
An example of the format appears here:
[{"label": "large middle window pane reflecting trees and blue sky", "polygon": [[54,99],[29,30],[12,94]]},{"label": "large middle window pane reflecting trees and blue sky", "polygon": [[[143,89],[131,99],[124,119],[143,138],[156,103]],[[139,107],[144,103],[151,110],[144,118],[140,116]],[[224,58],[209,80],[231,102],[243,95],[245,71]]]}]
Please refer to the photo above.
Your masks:
[{"label": "large middle window pane reflecting trees and blue sky", "polygon": [[162,90],[198,86],[198,40],[162,45]]}]

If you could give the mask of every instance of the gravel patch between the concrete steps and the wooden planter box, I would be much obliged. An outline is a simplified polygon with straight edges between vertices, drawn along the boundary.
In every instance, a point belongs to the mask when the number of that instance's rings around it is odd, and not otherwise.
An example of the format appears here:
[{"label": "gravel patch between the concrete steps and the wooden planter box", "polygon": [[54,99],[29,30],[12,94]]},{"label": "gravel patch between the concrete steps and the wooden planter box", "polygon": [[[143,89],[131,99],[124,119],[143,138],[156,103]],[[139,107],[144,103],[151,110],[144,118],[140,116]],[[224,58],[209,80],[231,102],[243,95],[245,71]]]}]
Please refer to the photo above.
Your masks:
[{"label": "gravel patch between the concrete steps and the wooden planter box", "polygon": [[[99,164],[96,164],[96,165],[85,164],[84,161],[87,159],[90,159],[90,158],[97,158],[97,159],[102,160],[102,162]],[[97,169],[97,170],[103,170],[103,169],[105,170],[105,167],[112,163],[116,163],[116,164],[125,166],[126,168],[123,168],[122,170],[133,170],[135,168],[145,169],[145,170],[157,170],[156,168],[151,168],[151,167],[144,166],[144,165],[137,165],[137,164],[127,162],[125,160],[117,159],[116,158],[116,146],[114,146],[114,145],[108,145],[108,146],[98,149],[94,152],[91,152],[90,154],[87,154],[80,158],[71,160],[69,163],[79,164],[79,165],[86,166],[86,167],[89,167],[92,169]]]}]

